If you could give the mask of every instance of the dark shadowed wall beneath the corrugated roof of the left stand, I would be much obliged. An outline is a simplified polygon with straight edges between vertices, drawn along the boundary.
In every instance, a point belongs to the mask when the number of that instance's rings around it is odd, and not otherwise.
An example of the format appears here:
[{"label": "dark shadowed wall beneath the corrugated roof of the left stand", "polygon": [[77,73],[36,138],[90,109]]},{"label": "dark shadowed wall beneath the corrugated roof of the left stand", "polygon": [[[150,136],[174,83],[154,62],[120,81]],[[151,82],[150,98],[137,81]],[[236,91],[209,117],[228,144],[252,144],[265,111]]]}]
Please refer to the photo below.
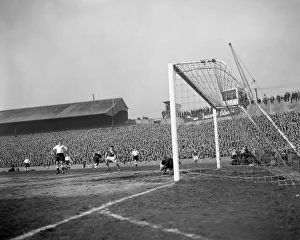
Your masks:
[{"label": "dark shadowed wall beneath the corrugated roof of the left stand", "polygon": [[100,114],[30,122],[6,123],[0,125],[0,136],[108,127],[112,126],[112,122],[114,122],[114,125],[120,125],[125,124],[127,120],[128,112],[119,111],[114,116],[113,121],[111,116]]}]

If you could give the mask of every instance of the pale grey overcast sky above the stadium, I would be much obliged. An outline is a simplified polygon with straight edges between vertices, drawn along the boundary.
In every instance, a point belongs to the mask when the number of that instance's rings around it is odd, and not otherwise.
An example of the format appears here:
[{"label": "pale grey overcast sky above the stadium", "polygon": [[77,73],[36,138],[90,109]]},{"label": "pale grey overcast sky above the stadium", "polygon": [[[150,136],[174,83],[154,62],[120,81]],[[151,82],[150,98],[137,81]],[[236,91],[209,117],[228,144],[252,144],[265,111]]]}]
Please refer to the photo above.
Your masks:
[{"label": "pale grey overcast sky above the stadium", "polygon": [[[228,43],[259,97],[300,90],[300,0],[0,0],[0,110],[121,97],[161,117],[168,63]],[[254,87],[254,86],[251,86]]]}]

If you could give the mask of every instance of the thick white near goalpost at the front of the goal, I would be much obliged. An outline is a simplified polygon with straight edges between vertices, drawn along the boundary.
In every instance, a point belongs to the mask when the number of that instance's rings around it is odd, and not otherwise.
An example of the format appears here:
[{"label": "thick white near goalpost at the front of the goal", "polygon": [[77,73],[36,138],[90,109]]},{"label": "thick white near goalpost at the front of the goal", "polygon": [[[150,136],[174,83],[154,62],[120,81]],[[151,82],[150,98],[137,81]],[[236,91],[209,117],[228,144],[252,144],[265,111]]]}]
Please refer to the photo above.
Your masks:
[{"label": "thick white near goalpost at the front of the goal", "polygon": [[177,116],[176,116],[176,100],[175,100],[175,83],[173,64],[168,65],[169,74],[169,97],[170,97],[170,117],[171,117],[171,133],[172,133],[172,153],[173,153],[173,168],[174,168],[174,181],[179,181],[179,154],[178,154],[178,140],[177,140]]}]

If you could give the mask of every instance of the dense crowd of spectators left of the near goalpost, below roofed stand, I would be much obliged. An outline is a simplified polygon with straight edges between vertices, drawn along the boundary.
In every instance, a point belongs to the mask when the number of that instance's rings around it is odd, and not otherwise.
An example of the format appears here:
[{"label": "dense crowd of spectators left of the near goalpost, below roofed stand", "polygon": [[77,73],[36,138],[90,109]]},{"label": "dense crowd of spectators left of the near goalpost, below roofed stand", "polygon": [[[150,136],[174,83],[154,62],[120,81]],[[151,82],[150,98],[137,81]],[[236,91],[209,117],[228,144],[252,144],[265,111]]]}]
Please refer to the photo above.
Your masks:
[{"label": "dense crowd of spectators left of the near goalpost, below roofed stand", "polygon": [[122,162],[131,160],[134,147],[142,160],[157,160],[171,146],[170,136],[170,126],[145,124],[4,136],[0,137],[0,167],[20,166],[25,157],[31,159],[32,165],[53,164],[52,149],[60,139],[74,164],[91,162],[94,152],[104,155],[110,145]]}]

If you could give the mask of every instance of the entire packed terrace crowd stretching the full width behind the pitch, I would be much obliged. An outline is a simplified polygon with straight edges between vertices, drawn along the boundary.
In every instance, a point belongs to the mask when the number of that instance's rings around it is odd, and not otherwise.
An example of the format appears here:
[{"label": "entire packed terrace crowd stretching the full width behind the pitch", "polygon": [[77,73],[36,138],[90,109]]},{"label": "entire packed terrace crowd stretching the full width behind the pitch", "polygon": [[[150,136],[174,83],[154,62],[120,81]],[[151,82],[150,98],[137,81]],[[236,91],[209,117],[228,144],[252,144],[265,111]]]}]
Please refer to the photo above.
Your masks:
[{"label": "entire packed terrace crowd stretching the full width behind the pitch", "polygon": [[[287,112],[271,116],[273,121],[300,150],[300,112]],[[290,149],[283,137],[264,116],[253,117],[257,127],[245,116],[223,119],[218,123],[220,155],[230,156],[230,149],[241,149],[244,145],[252,152],[283,151]],[[94,152],[102,154],[114,145],[121,162],[131,160],[134,147],[140,152],[142,161],[160,160],[164,155],[172,156],[171,126],[168,124],[136,124],[114,128],[95,128],[51,133],[38,133],[0,137],[0,167],[21,166],[26,157],[32,165],[51,165],[53,147],[59,140],[69,148],[75,164],[89,163]],[[200,158],[215,156],[213,122],[180,125],[178,128],[179,157],[191,158],[193,150]],[[271,147],[268,142],[271,142]]]}]

